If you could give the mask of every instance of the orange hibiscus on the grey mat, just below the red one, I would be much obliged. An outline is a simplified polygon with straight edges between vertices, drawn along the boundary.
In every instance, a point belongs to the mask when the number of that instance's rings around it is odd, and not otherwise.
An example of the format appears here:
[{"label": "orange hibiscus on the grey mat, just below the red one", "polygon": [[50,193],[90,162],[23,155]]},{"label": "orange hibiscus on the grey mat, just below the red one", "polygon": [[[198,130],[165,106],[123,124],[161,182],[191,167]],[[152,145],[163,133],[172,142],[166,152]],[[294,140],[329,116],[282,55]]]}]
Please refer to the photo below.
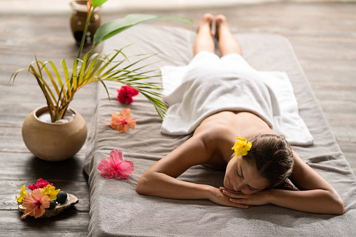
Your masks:
[{"label": "orange hibiscus on the grey mat, just below the red one", "polygon": [[130,117],[130,113],[131,110],[129,108],[122,109],[120,111],[120,115],[113,113],[110,126],[121,133],[127,133],[127,129],[134,129],[136,126],[136,120],[134,117]]}]

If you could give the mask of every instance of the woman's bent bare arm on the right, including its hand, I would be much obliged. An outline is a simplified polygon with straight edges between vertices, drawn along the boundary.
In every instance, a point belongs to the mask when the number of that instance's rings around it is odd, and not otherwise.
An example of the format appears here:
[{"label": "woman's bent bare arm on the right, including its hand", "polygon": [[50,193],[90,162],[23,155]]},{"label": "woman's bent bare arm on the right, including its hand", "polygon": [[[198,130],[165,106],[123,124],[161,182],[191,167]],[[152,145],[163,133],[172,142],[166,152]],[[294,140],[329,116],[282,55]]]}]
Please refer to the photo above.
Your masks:
[{"label": "woman's bent bare arm on the right, including its hand", "polygon": [[230,201],[247,206],[273,203],[307,213],[342,215],[343,201],[339,194],[294,152],[294,168],[290,180],[300,191],[270,189],[244,195],[222,190]]}]

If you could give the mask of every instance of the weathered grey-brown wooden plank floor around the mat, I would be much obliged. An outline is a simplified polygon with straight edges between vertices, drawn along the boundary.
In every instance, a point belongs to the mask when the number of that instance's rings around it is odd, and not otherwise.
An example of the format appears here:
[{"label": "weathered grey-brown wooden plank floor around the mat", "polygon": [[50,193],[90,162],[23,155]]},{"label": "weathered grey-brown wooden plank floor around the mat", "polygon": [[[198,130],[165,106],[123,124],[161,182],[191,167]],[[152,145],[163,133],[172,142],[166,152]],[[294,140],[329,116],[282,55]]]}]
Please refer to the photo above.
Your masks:
[{"label": "weathered grey-brown wooden plank floor around the mat", "polygon": [[[149,12],[190,17],[195,30],[206,12],[224,13],[234,33],[272,32],[287,37],[324,110],[341,150],[356,173],[356,3],[265,3],[229,8]],[[31,155],[22,141],[24,118],[45,104],[36,81],[27,73],[8,84],[11,73],[27,67],[36,57],[73,60],[76,45],[69,29],[69,15],[0,15],[0,236],[87,236],[90,194],[83,173],[85,148],[76,157],[51,163]],[[123,13],[102,15],[104,22]],[[155,23],[157,24],[157,23]],[[159,24],[167,24],[159,22]],[[71,106],[90,117],[96,85],[89,85]],[[80,199],[74,207],[48,219],[20,220],[15,195],[21,185],[38,178]]]}]

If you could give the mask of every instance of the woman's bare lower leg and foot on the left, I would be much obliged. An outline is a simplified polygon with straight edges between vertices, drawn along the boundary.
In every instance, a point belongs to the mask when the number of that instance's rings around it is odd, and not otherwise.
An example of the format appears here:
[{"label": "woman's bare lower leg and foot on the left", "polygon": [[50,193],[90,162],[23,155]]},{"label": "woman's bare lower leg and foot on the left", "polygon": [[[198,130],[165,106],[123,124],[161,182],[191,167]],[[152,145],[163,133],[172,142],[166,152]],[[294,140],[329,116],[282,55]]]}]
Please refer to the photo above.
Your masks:
[{"label": "woman's bare lower leg and foot on the left", "polygon": [[194,42],[194,55],[201,51],[215,52],[215,44],[211,35],[213,20],[214,17],[210,13],[206,13],[201,17],[197,38],[195,38]]}]

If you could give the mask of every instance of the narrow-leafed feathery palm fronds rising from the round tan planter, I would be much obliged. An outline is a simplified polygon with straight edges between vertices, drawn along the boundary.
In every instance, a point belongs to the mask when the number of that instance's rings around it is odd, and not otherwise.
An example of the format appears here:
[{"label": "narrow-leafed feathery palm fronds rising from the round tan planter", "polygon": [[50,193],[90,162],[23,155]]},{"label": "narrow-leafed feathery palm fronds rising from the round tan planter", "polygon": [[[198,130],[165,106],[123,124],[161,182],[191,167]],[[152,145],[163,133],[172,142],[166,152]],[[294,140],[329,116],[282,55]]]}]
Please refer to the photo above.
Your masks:
[{"label": "narrow-leafed feathery palm fronds rising from the round tan planter", "polygon": [[[74,59],[72,76],[69,76],[70,73],[64,59],[61,60],[64,76],[60,76],[53,62],[41,62],[36,59],[28,69],[20,69],[13,73],[10,80],[12,78],[15,80],[18,73],[24,70],[34,75],[45,96],[48,108],[50,108],[52,122],[62,119],[76,92],[85,85],[101,82],[108,94],[105,81],[120,82],[137,89],[153,104],[159,117],[163,120],[166,114],[166,104],[161,101],[161,83],[150,82],[152,78],[159,75],[150,76],[156,70],[143,70],[152,63],[139,66],[139,63],[155,55],[134,55],[131,57],[140,58],[129,62],[129,57],[124,55],[122,49],[94,54],[87,52],[83,60]],[[118,56],[122,56],[122,59],[118,59]]]}]

